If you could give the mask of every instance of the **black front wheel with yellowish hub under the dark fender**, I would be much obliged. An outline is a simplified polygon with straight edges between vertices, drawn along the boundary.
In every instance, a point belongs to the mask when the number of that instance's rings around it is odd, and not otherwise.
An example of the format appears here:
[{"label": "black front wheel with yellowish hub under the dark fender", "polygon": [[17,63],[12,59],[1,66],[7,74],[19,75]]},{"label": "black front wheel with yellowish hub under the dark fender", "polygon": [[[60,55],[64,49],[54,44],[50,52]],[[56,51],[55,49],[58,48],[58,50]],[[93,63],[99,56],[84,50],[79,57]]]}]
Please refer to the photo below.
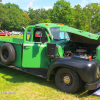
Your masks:
[{"label": "black front wheel with yellowish hub under the dark fender", "polygon": [[75,93],[80,86],[80,77],[72,69],[61,68],[56,72],[55,83],[60,90]]}]

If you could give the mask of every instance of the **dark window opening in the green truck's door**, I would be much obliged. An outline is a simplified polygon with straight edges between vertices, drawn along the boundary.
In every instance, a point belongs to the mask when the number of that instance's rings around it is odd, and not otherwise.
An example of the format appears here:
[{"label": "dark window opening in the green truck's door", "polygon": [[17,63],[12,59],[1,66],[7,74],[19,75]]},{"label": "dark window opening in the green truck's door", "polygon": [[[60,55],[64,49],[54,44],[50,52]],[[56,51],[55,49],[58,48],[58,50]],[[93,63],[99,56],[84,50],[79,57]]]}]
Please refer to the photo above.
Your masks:
[{"label": "dark window opening in the green truck's door", "polygon": [[[34,30],[33,41],[34,42],[42,42],[42,29],[37,28]],[[46,33],[45,33],[45,42],[47,42]]]}]

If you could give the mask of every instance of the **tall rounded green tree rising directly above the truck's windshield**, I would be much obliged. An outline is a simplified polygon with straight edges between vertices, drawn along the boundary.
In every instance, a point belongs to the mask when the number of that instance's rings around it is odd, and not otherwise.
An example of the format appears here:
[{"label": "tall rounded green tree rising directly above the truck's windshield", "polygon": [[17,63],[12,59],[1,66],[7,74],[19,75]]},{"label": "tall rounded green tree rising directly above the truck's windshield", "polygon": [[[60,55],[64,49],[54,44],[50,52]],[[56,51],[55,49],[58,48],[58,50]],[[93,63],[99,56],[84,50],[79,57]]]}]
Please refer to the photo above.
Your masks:
[{"label": "tall rounded green tree rising directly above the truck's windshield", "polygon": [[73,25],[73,14],[69,2],[58,0],[53,7],[51,21],[55,23],[63,23],[65,25]]}]

